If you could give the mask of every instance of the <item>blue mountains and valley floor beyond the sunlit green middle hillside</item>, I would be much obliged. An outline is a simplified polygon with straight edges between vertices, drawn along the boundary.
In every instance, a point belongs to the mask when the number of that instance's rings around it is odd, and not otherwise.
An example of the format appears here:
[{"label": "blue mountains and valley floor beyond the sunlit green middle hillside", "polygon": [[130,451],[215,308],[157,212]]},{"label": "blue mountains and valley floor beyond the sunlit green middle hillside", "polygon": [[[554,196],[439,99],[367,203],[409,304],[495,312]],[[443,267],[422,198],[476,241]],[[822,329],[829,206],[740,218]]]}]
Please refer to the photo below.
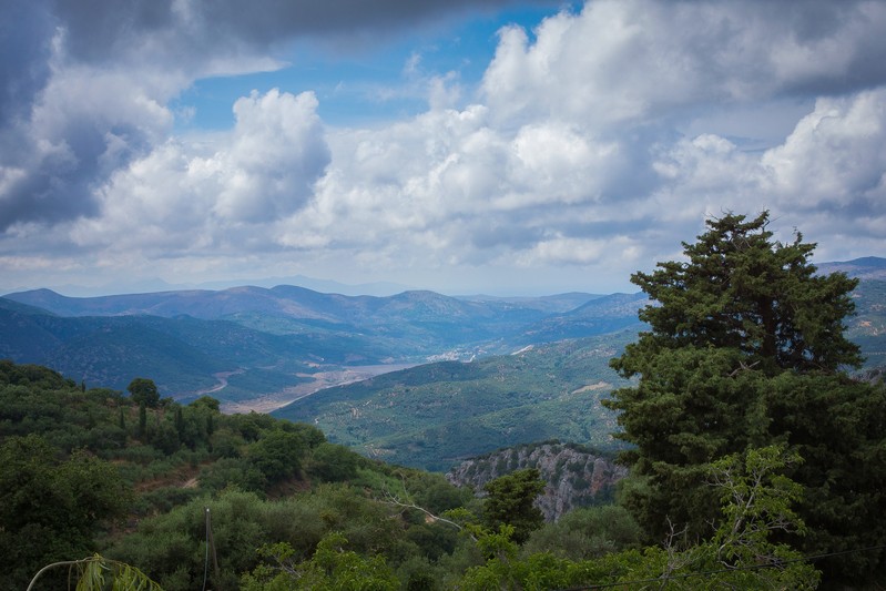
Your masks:
[{"label": "blue mountains and valley floor beyond the sunlit green middle hillside", "polygon": [[212,391],[242,403],[303,394],[343,368],[371,375],[602,334],[637,324],[644,302],[642,294],[345,296],[296,286],[100,297],[34,289],[0,298],[0,357],[111,388],[151,377],[174,398]]}]

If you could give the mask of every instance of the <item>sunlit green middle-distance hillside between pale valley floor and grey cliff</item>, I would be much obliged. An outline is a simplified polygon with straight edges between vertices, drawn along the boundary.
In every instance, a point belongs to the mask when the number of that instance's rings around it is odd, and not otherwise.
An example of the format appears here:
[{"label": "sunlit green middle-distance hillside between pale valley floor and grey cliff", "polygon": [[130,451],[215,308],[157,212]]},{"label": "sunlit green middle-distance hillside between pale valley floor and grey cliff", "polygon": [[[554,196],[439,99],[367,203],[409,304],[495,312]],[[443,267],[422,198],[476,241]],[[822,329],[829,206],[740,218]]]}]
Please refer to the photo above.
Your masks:
[{"label": "sunlit green middle-distance hillside between pale valley floor and grey cliff", "polygon": [[634,337],[625,332],[421,365],[320,390],[273,415],[316,425],[367,456],[437,471],[547,439],[613,450],[615,416],[600,400],[627,384],[609,359]]}]

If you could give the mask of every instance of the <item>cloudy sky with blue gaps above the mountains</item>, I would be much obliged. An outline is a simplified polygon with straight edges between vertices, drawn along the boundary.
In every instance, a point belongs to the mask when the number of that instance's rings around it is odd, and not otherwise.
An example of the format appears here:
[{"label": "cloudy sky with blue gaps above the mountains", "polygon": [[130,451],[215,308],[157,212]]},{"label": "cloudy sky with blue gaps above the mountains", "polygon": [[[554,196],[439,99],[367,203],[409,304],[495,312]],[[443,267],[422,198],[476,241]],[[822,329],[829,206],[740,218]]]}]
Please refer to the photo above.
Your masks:
[{"label": "cloudy sky with blue gaps above the mountains", "polygon": [[0,0],[0,294],[886,256],[886,1]]}]

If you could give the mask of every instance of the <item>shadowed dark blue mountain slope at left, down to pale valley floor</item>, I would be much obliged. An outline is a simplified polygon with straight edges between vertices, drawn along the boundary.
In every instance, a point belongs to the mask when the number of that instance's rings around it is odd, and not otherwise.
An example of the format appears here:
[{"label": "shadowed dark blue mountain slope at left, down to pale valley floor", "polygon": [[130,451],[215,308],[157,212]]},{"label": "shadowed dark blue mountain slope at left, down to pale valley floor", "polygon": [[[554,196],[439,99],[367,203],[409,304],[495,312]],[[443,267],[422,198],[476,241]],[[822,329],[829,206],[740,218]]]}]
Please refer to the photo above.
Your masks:
[{"label": "shadowed dark blue mountain slope at left, down to pale valley floor", "polygon": [[218,398],[256,398],[304,381],[320,366],[379,364],[389,357],[359,335],[274,335],[193,317],[61,317],[0,303],[0,357],[116,389],[134,377],[150,377],[165,396],[189,396],[214,387],[215,374],[237,371],[238,387]]}]

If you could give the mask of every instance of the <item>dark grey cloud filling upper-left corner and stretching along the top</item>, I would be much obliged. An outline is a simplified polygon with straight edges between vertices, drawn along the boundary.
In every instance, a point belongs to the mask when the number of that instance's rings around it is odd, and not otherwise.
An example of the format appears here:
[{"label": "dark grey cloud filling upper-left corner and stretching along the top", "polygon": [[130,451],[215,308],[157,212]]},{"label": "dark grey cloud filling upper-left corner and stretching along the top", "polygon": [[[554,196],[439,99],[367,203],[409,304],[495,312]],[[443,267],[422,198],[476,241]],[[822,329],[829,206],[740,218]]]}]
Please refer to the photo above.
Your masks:
[{"label": "dark grey cloud filling upper-left corner and stretching along the top", "polygon": [[[549,0],[538,3],[553,4]],[[59,109],[47,95],[54,68],[81,67],[85,77],[118,69],[142,84],[167,73],[186,84],[213,73],[225,60],[264,58],[268,48],[299,35],[378,42],[407,26],[445,14],[493,10],[513,0],[29,0],[0,9],[0,232],[17,222],[55,223],[96,212],[93,188],[109,162],[125,164],[147,144],[151,131],[130,108],[131,121],[105,118],[100,109]],[[526,3],[526,2],[523,2]],[[336,41],[337,40],[337,41]],[[125,75],[125,74],[124,74]],[[150,84],[144,82],[143,84]],[[118,81],[94,89],[125,102],[139,89]],[[53,89],[64,92],[67,89]],[[180,90],[180,89],[175,89]],[[157,91],[160,108],[163,92]],[[86,93],[88,94],[88,93]],[[154,99],[147,92],[147,99]],[[141,100],[141,99],[140,99]],[[54,101],[54,102],[53,102]],[[144,101],[141,101],[143,104]],[[32,120],[43,109],[47,123]],[[63,111],[57,115],[53,111]],[[40,128],[40,129],[37,129]],[[122,144],[123,149],[119,149]],[[116,147],[115,147],[116,146]],[[113,152],[113,154],[112,154]],[[109,156],[110,155],[110,156]],[[112,156],[112,157],[111,157]]]}]

